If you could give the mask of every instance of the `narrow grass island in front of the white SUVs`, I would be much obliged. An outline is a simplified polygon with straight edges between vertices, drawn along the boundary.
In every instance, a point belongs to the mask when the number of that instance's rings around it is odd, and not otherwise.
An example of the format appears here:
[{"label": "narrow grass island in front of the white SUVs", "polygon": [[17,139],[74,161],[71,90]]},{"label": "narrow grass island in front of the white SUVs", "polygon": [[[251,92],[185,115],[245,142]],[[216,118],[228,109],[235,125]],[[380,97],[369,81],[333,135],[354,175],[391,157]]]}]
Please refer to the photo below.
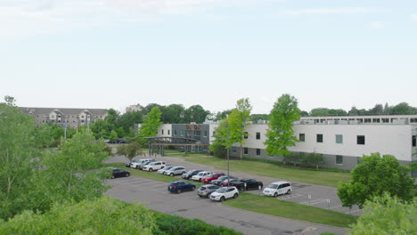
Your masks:
[{"label": "narrow grass island in front of the white SUVs", "polygon": [[347,228],[351,223],[356,223],[357,218],[353,215],[245,192],[241,193],[238,199],[226,200],[223,204],[266,215],[275,215],[298,221],[322,223],[343,228]]}]

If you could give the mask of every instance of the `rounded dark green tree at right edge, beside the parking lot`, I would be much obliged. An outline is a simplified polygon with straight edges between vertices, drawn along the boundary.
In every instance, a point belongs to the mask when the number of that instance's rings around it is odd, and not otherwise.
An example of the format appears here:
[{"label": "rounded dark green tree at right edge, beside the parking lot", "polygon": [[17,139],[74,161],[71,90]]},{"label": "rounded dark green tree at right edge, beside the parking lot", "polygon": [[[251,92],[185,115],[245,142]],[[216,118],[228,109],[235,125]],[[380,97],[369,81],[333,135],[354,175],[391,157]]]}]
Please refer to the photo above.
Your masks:
[{"label": "rounded dark green tree at right edge, beside the parking lot", "polygon": [[398,199],[409,200],[414,187],[411,169],[401,166],[397,158],[391,155],[372,153],[364,156],[362,163],[352,171],[350,182],[340,182],[338,196],[343,207],[357,205],[363,207],[366,200],[382,196],[384,192]]}]

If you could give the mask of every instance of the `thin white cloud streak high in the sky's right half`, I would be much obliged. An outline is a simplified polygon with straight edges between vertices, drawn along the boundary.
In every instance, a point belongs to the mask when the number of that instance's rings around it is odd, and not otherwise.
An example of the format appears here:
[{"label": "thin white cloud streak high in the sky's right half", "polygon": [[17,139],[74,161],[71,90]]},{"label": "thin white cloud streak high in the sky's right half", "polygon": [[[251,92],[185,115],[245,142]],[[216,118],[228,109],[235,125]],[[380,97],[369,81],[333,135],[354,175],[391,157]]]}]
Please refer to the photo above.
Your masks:
[{"label": "thin white cloud streak high in the sky's right half", "polygon": [[344,8],[314,8],[285,11],[284,14],[290,15],[311,15],[311,14],[367,14],[383,12],[380,9],[366,7],[344,7]]}]

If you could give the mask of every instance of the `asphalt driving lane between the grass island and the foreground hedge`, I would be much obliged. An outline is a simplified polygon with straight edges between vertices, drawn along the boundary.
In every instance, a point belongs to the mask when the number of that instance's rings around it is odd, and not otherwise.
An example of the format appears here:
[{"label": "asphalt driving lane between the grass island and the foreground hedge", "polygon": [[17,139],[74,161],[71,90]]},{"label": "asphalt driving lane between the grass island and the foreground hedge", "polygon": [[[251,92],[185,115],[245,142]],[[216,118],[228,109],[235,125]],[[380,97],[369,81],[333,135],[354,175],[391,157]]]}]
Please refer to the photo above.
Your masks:
[{"label": "asphalt driving lane between the grass island and the foreground hedge", "polygon": [[106,192],[106,195],[110,197],[130,203],[140,202],[148,208],[165,214],[200,219],[206,223],[241,231],[243,234],[288,235],[295,234],[307,227],[315,227],[316,234],[326,231],[337,234],[346,232],[344,229],[337,227],[294,221],[226,207],[210,199],[200,199],[196,191],[187,191],[181,194],[169,193],[167,182],[137,177],[122,177],[109,180],[108,183],[113,186]]}]

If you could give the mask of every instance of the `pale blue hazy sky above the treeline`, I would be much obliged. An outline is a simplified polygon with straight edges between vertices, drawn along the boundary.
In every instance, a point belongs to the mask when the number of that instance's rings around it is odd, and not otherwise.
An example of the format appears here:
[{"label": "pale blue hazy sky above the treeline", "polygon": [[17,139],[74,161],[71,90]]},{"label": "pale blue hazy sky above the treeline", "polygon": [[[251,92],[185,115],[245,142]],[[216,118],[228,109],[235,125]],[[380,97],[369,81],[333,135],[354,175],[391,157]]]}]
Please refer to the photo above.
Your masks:
[{"label": "pale blue hazy sky above the treeline", "polygon": [[417,106],[415,0],[0,0],[0,96],[269,113]]}]

